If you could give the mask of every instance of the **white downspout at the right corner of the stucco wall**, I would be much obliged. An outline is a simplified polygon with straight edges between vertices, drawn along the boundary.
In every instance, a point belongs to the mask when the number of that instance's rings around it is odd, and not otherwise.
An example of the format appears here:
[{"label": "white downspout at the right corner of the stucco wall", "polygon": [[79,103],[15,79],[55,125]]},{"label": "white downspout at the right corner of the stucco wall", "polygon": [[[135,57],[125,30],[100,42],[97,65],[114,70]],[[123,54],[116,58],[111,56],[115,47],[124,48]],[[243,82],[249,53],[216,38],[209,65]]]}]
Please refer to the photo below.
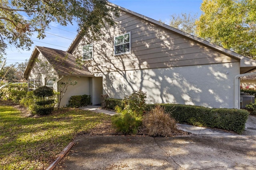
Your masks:
[{"label": "white downspout at the right corner of the stucco wall", "polygon": [[240,77],[248,76],[248,75],[256,75],[256,72],[250,72],[250,73],[244,73],[244,74],[238,74],[235,77],[235,100],[234,100],[234,108],[240,109]]}]

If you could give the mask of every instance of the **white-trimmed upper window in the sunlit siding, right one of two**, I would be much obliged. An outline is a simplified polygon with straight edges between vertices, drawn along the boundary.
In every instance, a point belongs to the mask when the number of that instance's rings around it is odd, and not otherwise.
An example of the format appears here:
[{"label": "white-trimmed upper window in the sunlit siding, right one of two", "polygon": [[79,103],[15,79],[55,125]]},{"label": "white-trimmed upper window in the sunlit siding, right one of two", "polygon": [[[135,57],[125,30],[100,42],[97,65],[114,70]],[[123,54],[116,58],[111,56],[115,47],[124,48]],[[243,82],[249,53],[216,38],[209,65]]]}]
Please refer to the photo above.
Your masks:
[{"label": "white-trimmed upper window in the sunlit siding, right one of two", "polygon": [[130,53],[131,51],[131,38],[130,32],[126,34],[122,34],[120,36],[116,36],[114,38],[114,45],[115,45],[115,55]]}]

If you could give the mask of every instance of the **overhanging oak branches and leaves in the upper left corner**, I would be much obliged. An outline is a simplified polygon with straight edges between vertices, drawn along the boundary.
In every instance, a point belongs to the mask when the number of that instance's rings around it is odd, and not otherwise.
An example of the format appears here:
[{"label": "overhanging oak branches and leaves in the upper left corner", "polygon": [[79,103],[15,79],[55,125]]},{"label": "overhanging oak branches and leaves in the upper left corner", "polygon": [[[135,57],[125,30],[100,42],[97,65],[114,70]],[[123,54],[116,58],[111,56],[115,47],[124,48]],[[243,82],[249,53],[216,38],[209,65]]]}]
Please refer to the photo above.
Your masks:
[{"label": "overhanging oak branches and leaves in the upper left corner", "polygon": [[8,44],[29,50],[31,36],[44,38],[50,22],[77,22],[81,36],[98,40],[100,29],[114,25],[113,16],[118,16],[107,4],[108,0],[0,0],[0,54]]}]

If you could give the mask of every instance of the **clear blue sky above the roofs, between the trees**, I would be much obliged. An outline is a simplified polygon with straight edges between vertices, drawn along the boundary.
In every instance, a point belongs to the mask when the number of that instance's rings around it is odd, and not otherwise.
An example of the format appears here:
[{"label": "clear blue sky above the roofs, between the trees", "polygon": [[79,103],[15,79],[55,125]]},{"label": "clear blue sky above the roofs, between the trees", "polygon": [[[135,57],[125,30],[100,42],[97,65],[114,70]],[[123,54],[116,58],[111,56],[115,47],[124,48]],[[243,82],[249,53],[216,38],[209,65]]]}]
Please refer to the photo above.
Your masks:
[{"label": "clear blue sky above the roofs, between the trees", "polygon": [[[168,24],[172,14],[197,13],[199,17],[202,4],[202,0],[110,0],[110,2],[154,20],[161,19],[166,24]],[[46,31],[46,38],[38,40],[36,35],[32,36],[34,44],[30,47],[30,51],[22,51],[9,45],[6,50],[7,55],[4,55],[7,58],[6,63],[10,65],[28,60],[35,45],[66,51],[77,34],[76,30],[77,26],[75,25],[63,27],[59,24],[51,23],[50,30]]]}]

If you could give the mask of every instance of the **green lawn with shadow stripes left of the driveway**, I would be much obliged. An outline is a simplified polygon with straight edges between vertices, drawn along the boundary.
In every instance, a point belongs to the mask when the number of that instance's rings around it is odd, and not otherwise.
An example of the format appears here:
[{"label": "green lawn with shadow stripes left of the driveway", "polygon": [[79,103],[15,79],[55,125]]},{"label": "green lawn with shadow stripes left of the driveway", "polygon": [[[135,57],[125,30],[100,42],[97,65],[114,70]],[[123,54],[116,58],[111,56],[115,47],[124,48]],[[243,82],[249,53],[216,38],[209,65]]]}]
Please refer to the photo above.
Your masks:
[{"label": "green lawn with shadow stripes left of the driveway", "polygon": [[44,169],[76,134],[110,119],[78,109],[25,117],[14,107],[0,106],[0,169]]}]

